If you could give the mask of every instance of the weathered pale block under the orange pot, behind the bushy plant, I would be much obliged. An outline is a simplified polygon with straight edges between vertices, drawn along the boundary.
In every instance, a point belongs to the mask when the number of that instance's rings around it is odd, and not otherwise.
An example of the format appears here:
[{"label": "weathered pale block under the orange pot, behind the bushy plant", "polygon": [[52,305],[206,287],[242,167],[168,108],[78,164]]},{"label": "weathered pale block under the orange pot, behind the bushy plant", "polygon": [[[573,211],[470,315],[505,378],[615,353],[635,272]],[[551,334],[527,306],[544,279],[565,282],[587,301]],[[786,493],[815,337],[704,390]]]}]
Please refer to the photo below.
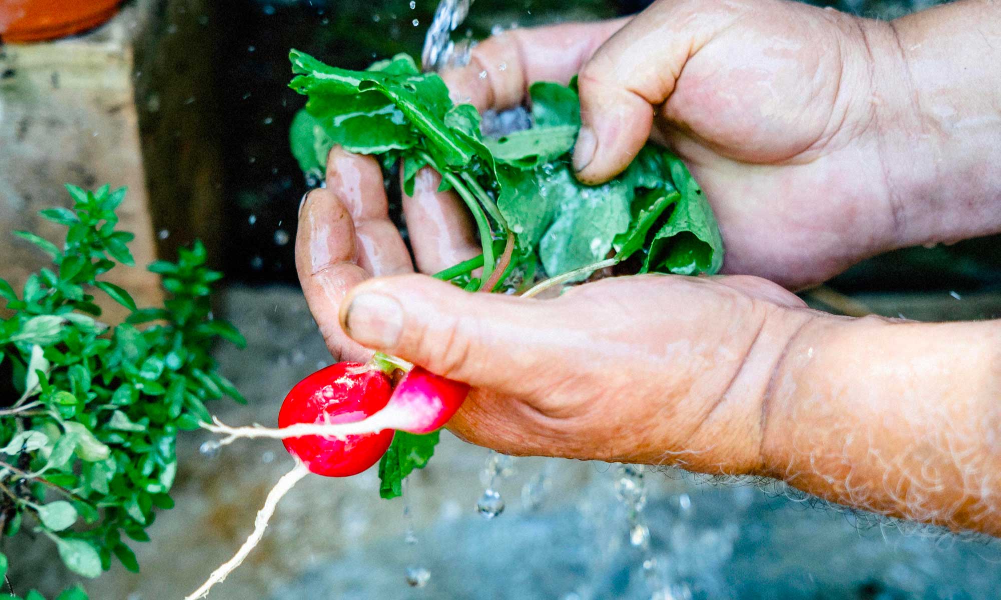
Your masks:
[{"label": "weathered pale block under the orange pot, behind the bushy plant", "polygon": [[[145,270],[155,258],[134,103],[132,31],[148,4],[140,2],[107,25],[78,38],[0,49],[0,276],[15,287],[48,257],[10,232],[27,229],[59,240],[65,229],[38,217],[68,206],[64,183],[127,186],[119,228],[135,233],[136,267],[106,277],[140,304],[162,298]],[[98,296],[105,319],[125,309]]]}]

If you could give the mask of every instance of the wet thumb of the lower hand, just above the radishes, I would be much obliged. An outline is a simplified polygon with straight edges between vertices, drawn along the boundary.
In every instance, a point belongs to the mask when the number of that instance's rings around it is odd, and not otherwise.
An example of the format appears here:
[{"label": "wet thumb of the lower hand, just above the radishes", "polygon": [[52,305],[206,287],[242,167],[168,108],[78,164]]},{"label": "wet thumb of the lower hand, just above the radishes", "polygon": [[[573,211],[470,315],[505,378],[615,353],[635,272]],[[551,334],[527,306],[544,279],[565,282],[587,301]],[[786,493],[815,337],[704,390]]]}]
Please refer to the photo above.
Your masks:
[{"label": "wet thumb of the lower hand, just above the radishes", "polygon": [[562,351],[553,347],[560,337],[547,335],[557,312],[551,301],[470,294],[424,275],[399,275],[352,289],[340,323],[368,348],[474,387],[523,394],[526,378],[513,373],[538,369]]}]

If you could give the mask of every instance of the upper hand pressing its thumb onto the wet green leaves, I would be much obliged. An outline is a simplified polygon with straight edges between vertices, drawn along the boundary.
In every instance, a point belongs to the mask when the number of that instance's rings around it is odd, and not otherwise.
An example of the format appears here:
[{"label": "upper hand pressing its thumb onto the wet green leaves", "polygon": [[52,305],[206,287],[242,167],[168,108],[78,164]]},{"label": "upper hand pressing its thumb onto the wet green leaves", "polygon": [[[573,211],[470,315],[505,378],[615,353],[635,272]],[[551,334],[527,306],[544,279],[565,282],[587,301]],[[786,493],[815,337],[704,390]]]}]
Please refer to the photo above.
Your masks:
[{"label": "upper hand pressing its thumb onto the wet green leaves", "polygon": [[895,55],[887,31],[793,2],[662,0],[628,20],[503,33],[443,77],[484,110],[580,73],[582,180],[622,171],[648,137],[668,144],[713,204],[725,271],[800,288],[899,245],[876,95],[906,86],[873,58]]}]

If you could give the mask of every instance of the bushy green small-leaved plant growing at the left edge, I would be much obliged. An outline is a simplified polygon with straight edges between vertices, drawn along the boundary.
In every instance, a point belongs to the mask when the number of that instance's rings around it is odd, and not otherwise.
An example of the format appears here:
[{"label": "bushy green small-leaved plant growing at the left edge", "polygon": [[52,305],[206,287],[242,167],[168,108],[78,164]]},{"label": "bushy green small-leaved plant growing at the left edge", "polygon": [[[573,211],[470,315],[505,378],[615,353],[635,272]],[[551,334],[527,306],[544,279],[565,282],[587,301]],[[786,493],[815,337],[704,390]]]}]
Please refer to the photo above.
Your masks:
[{"label": "bushy green small-leaved plant growing at the left edge", "polygon": [[[112,559],[138,571],[126,539],[148,541],[156,509],[174,504],[178,432],[209,419],[206,401],[244,401],[209,350],[220,338],[245,342],[212,317],[221,274],[205,266],[200,242],[176,262],[149,265],[168,292],[161,308],[140,309],[100,279],[116,263],[135,262],[127,246],[134,236],[115,230],[125,189],[66,188],[72,209],[41,211],[67,226],[61,247],[15,232],[51,256],[52,268],[30,275],[20,295],[0,279],[10,315],[0,319],[0,523],[6,536],[49,538],[71,571],[92,578]],[[131,311],[124,323],[95,318],[95,290]],[[58,600],[86,597],[76,586]],[[24,598],[44,600],[36,591]]]}]

